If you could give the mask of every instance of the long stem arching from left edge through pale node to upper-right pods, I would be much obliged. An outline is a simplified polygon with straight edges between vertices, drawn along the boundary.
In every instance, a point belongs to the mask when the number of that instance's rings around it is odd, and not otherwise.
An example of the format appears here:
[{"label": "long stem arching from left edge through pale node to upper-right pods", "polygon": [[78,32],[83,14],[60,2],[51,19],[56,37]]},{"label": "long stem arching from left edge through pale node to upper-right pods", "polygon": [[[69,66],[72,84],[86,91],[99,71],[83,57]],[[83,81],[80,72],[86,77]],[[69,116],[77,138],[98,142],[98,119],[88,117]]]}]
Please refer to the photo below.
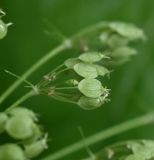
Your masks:
[{"label": "long stem arching from left edge through pale node to upper-right pods", "polygon": [[45,56],[40,58],[32,67],[30,67],[18,80],[16,80],[1,96],[0,96],[0,104],[25,80],[27,79],[32,73],[34,73],[37,69],[39,69],[42,65],[48,62],[51,58],[55,55],[59,54],[60,52],[64,51],[65,49],[72,48],[73,41],[79,39],[85,34],[91,33],[95,30],[101,29],[105,27],[105,22],[100,22],[98,24],[92,25],[87,27],[83,30],[80,30],[76,34],[74,34],[70,39],[65,39],[65,41],[58,45],[55,49],[51,50]]}]

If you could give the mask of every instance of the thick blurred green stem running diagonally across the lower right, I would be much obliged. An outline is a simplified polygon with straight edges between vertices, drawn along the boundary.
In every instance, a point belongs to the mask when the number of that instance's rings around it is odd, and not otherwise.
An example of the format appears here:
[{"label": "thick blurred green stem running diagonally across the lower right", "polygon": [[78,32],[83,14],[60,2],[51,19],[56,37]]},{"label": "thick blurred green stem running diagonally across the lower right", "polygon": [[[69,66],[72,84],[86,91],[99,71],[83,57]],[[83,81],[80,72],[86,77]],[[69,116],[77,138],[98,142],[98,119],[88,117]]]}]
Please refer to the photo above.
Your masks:
[{"label": "thick blurred green stem running diagonally across the lower right", "polygon": [[[128,130],[131,130],[137,127],[141,127],[141,126],[153,123],[153,122],[154,122],[154,113],[150,113],[150,114],[123,122],[109,129],[100,131],[99,133],[96,133],[90,137],[85,138],[85,143],[87,146],[93,145],[97,142],[100,142],[102,140],[115,136],[117,134],[126,132]],[[43,158],[42,160],[58,160],[84,147],[85,145],[83,141],[81,140],[68,147],[65,147],[64,149],[57,151],[56,153],[53,153],[47,156],[46,158]]]}]

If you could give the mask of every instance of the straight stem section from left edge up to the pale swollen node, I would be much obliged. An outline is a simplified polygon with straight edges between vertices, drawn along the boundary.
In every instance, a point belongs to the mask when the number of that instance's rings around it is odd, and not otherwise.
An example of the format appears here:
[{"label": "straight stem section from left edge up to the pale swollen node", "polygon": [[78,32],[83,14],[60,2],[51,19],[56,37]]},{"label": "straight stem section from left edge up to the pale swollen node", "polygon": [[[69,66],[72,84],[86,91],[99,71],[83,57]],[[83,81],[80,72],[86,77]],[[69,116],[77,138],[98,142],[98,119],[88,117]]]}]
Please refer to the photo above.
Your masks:
[{"label": "straight stem section from left edge up to the pale swollen node", "polygon": [[34,73],[38,68],[40,68],[43,64],[49,61],[58,53],[63,50],[69,48],[67,43],[62,43],[57,46],[55,49],[51,50],[44,57],[38,60],[32,67],[30,67],[18,80],[16,80],[0,97],[0,104],[23,82],[27,79],[32,73]]}]

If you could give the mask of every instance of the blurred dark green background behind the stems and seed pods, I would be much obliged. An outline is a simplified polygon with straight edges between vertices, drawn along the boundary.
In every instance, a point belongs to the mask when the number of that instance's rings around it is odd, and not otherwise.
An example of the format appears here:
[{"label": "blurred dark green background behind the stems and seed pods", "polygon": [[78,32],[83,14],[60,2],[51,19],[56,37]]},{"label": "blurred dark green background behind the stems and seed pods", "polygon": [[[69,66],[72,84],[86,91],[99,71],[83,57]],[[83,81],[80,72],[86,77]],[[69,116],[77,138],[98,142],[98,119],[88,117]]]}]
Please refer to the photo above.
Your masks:
[{"label": "blurred dark green background behind the stems and seed pods", "polygon": [[[50,147],[45,156],[63,148],[81,136],[77,129],[81,126],[86,136],[123,122],[127,119],[153,111],[154,105],[154,1],[152,0],[1,0],[0,7],[7,13],[6,22],[13,22],[5,39],[0,41],[0,93],[14,81],[4,73],[4,69],[22,74],[37,59],[58,44],[52,33],[56,26],[64,35],[72,35],[79,29],[96,22],[126,21],[142,27],[148,37],[146,43],[138,43],[138,56],[129,63],[117,67],[111,74],[108,87],[111,102],[94,111],[83,111],[78,106],[58,102],[47,97],[35,97],[23,105],[40,113],[41,123],[49,132]],[[71,56],[70,51],[55,57],[29,80],[39,79],[56,65]],[[2,111],[27,91],[21,86],[1,106]],[[154,126],[138,128],[123,133],[91,147],[98,151],[103,146],[119,140],[154,138]],[[2,140],[0,140],[2,142]],[[87,156],[85,150],[63,158],[75,160]],[[39,159],[39,158],[37,158]]]}]

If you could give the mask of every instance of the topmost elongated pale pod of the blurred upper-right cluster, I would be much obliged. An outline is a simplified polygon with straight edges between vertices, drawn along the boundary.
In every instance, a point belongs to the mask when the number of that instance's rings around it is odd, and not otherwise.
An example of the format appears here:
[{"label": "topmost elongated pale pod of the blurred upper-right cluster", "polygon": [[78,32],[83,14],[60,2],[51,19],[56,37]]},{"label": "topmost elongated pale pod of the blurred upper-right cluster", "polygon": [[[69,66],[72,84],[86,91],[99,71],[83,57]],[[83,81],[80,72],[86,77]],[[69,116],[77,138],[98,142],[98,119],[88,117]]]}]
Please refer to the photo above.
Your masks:
[{"label": "topmost elongated pale pod of the blurred upper-right cluster", "polygon": [[120,35],[127,37],[129,39],[145,39],[143,31],[133,24],[122,23],[122,22],[112,22],[109,27],[119,33]]}]

